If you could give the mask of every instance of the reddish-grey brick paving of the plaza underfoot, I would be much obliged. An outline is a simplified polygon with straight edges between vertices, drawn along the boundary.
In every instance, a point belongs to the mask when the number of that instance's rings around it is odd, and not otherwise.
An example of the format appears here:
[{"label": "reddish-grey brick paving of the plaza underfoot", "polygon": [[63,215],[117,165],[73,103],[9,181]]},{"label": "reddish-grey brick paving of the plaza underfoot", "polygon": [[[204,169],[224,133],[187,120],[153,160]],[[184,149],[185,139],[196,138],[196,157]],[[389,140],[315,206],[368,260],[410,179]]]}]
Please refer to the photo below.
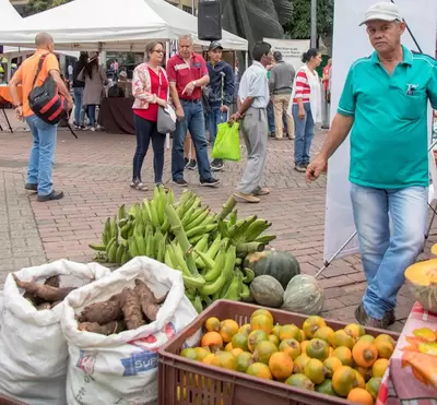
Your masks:
[{"label": "reddish-grey brick paving of the plaza underfoot", "polygon": [[[4,128],[4,122],[0,124]],[[16,131],[0,132],[0,286],[7,274],[31,266],[70,259],[90,262],[94,252],[90,242],[99,240],[103,223],[117,207],[141,201],[152,192],[129,188],[134,136],[105,132],[79,132],[75,140],[60,129],[56,152],[54,184],[66,196],[60,201],[39,203],[35,194],[24,190],[31,134],[12,120]],[[326,132],[316,134],[316,153]],[[165,181],[170,180],[170,151],[166,153]],[[245,156],[245,151],[243,152]],[[152,153],[144,162],[143,180],[152,187]],[[239,204],[239,215],[257,214],[273,223],[277,239],[275,249],[292,252],[304,273],[315,275],[323,263],[323,224],[326,178],[307,186],[303,174],[293,170],[293,142],[269,140],[263,186],[271,194],[260,204]],[[240,163],[226,163],[217,175],[217,189],[199,186],[197,172],[188,171],[190,189],[201,195],[204,204],[220,210],[238,183],[246,156]],[[175,189],[177,194],[180,189]],[[437,222],[436,222],[437,226]],[[433,227],[425,254],[436,241]],[[354,321],[354,310],[366,286],[358,255],[335,260],[320,277],[326,289],[323,315],[344,322]],[[391,326],[402,329],[413,300],[406,286],[400,293],[397,319]]]}]

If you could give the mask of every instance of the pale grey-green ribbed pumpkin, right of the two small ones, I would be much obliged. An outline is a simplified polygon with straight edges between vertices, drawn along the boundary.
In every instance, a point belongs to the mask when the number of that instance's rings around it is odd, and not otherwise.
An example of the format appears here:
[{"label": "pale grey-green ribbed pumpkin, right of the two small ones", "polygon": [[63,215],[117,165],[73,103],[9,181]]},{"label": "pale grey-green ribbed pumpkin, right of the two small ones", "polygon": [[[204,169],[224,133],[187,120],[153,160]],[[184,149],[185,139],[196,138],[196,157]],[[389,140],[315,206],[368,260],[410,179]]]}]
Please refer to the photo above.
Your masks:
[{"label": "pale grey-green ribbed pumpkin, right of the two small ones", "polygon": [[324,291],[315,277],[298,274],[288,283],[282,309],[306,315],[317,315],[323,309]]}]

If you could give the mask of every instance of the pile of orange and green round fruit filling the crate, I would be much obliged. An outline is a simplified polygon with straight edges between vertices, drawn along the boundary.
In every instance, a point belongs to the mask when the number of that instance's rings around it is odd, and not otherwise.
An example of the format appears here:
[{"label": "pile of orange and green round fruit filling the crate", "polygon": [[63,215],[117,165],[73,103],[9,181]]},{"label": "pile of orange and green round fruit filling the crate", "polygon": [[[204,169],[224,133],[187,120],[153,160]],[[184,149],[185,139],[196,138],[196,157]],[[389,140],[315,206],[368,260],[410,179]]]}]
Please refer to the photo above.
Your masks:
[{"label": "pile of orange and green round fruit filling the crate", "polygon": [[355,323],[334,331],[317,315],[302,327],[275,324],[265,309],[243,326],[209,318],[204,329],[200,346],[181,356],[357,404],[375,403],[395,346],[387,334],[374,337]]}]

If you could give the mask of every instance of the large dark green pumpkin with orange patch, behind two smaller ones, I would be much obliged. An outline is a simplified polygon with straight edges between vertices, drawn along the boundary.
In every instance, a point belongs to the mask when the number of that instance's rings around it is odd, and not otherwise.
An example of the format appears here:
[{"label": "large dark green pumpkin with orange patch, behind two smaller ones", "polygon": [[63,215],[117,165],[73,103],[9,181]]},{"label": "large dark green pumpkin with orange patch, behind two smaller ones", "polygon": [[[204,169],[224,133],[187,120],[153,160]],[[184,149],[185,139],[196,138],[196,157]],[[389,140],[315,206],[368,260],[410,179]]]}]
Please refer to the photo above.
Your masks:
[{"label": "large dark green pumpkin with orange patch, behind two smaller ones", "polygon": [[300,274],[299,263],[293,254],[274,249],[249,253],[245,267],[251,269],[256,277],[270,275],[276,278],[284,289],[295,275]]}]

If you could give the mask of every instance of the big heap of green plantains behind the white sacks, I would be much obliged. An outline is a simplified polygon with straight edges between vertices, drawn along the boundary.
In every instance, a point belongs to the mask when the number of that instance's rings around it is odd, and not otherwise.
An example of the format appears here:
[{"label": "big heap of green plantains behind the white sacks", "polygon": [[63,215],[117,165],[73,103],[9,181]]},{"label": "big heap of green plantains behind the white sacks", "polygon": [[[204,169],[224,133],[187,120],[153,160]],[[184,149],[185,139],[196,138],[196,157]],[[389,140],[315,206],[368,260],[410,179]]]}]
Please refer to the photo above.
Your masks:
[{"label": "big heap of green plantains behind the white sacks", "polygon": [[113,263],[146,255],[180,271],[186,295],[199,311],[221,298],[250,300],[255,274],[241,263],[275,236],[263,234],[272,225],[265,219],[238,219],[235,206],[231,196],[214,214],[189,190],[175,201],[172,189],[156,187],[151,200],[129,211],[121,205],[115,217],[107,218],[102,242],[90,247],[106,252]]}]

